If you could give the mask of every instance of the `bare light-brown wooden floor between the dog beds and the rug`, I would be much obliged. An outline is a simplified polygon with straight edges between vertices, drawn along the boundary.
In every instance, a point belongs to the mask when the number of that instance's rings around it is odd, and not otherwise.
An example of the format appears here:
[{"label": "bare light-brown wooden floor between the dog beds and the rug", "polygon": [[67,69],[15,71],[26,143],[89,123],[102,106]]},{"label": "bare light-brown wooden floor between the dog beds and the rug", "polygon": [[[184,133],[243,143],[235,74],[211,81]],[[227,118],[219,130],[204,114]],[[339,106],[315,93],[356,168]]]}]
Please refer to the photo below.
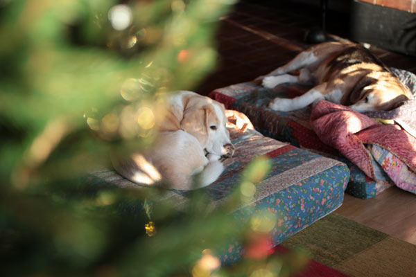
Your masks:
[{"label": "bare light-brown wooden floor between the dog beds and the rug", "polygon": [[397,187],[388,188],[372,199],[346,193],[343,205],[335,213],[416,244],[416,195]]}]

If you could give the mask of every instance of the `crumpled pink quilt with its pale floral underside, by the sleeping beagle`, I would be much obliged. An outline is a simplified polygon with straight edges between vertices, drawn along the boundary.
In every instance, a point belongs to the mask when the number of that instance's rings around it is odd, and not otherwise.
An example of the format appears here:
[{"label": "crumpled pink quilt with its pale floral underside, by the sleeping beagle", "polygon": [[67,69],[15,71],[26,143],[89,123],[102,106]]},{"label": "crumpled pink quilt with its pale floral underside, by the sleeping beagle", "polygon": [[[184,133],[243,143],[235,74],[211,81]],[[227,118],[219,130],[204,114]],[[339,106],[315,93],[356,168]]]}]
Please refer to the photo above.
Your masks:
[{"label": "crumpled pink quilt with its pale floral underside, by the sleeping beagle", "polygon": [[[396,163],[402,161],[407,166],[407,174],[415,175],[416,172],[416,138],[412,134],[415,128],[416,107],[412,105],[415,100],[410,100],[406,105],[392,110],[380,111],[377,114],[367,113],[376,118],[390,120],[390,125],[380,124],[378,121],[360,114],[343,105],[334,104],[326,100],[320,100],[311,112],[311,127],[320,140],[327,145],[336,148],[349,161],[363,170],[367,177],[376,179],[372,163],[373,150],[370,145],[377,145],[388,150],[396,158]],[[397,123],[406,122],[410,132]],[[400,121],[401,120],[401,121]],[[374,152],[374,151],[373,151]],[[381,157],[378,157],[381,159]],[[381,163],[385,161],[381,161]],[[385,164],[386,165],[386,164]],[[381,166],[383,166],[381,164]],[[396,176],[397,170],[388,170],[386,173],[395,184],[405,190],[416,192],[416,184],[411,184],[415,178],[410,176],[409,181]],[[386,168],[383,168],[386,170]]]}]

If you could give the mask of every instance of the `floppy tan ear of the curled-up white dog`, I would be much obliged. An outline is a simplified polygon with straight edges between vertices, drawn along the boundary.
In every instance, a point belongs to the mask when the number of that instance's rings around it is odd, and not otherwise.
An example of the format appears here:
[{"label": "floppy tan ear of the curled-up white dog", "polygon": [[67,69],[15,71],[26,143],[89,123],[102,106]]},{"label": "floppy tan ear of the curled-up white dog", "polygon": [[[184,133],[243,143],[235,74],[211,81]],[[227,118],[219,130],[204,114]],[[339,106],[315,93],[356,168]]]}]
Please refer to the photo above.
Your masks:
[{"label": "floppy tan ear of the curled-up white dog", "polygon": [[212,105],[185,109],[180,129],[195,136],[202,148],[205,148],[208,141],[208,118],[214,114]]}]

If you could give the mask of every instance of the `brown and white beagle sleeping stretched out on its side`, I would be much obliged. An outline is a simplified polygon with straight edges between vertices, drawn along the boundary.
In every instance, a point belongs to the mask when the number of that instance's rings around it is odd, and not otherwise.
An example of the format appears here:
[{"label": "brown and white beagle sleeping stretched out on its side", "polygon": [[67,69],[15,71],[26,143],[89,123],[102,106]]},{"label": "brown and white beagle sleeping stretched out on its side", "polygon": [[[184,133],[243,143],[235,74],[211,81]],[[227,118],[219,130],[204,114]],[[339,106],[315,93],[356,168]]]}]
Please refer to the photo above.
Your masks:
[{"label": "brown and white beagle sleeping stretched out on its side", "polygon": [[286,82],[315,87],[293,99],[275,98],[270,109],[293,111],[325,99],[359,112],[379,111],[413,99],[408,87],[378,58],[352,42],[324,42],[302,51],[263,78],[263,87]]}]

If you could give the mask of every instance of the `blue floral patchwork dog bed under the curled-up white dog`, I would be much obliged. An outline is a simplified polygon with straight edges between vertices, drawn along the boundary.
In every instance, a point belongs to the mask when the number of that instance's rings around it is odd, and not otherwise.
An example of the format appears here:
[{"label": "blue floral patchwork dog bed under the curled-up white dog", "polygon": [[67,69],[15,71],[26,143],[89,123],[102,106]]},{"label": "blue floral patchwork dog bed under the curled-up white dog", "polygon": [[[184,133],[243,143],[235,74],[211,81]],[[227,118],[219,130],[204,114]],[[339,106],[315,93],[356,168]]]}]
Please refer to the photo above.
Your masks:
[{"label": "blue floral patchwork dog bed under the curled-up white dog", "polygon": [[[275,213],[278,220],[271,232],[273,244],[279,244],[343,203],[349,179],[349,170],[344,163],[270,139],[254,129],[247,129],[246,125],[242,129],[245,130],[230,129],[236,152],[225,160],[223,174],[214,184],[200,188],[209,195],[214,206],[221,205],[235,188],[239,188],[241,172],[254,157],[259,156],[270,158],[270,172],[256,185],[252,202],[237,207],[233,215],[247,218],[264,211]],[[146,189],[108,169],[92,173],[89,180],[97,187],[110,184]],[[180,209],[191,193],[167,190],[161,201],[171,199]],[[226,263],[238,260],[242,251],[241,242],[229,242],[220,255],[221,260]]]}]

